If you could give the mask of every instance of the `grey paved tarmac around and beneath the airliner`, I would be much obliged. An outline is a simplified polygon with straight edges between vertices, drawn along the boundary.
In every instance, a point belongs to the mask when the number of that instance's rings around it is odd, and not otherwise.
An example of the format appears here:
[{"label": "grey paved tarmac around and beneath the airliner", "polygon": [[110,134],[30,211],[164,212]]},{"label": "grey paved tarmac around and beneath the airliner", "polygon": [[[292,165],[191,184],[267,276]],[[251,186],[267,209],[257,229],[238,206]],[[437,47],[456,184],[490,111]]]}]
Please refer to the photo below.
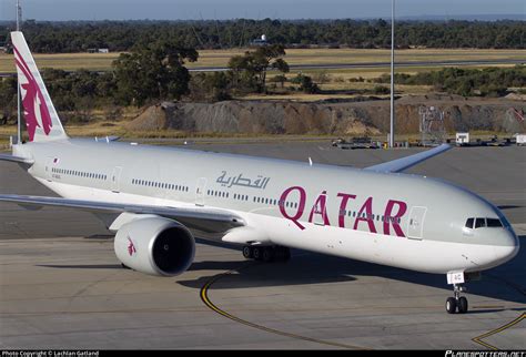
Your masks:
[{"label": "grey paved tarmac around and beneath the airliner", "polygon": [[[367,166],[415,150],[340,150],[327,141],[189,145]],[[0,204],[0,349],[525,349],[526,149],[453,149],[409,170],[498,205],[520,236],[512,262],[468,284],[448,315],[446,277],[294,251],[284,263],[198,244],[191,268],[162,278],[123,269],[91,214]],[[0,162],[0,193],[51,195]]]}]

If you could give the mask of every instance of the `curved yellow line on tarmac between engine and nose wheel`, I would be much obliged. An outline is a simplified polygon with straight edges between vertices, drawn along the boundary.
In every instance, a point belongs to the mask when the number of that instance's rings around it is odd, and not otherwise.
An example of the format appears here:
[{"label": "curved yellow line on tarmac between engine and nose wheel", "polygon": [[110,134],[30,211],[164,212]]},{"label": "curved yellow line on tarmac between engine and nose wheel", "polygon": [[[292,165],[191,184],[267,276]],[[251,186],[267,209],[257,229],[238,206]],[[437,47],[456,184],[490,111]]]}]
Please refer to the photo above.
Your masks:
[{"label": "curved yellow line on tarmac between engine and nose wheel", "polygon": [[346,348],[346,349],[368,349],[368,348],[364,348],[364,347],[358,347],[358,346],[353,346],[353,345],[345,345],[345,344],[340,344],[340,343],[334,343],[334,341],[330,341],[330,340],[323,340],[323,339],[317,339],[317,338],[312,338],[312,337],[306,337],[306,336],[301,336],[301,335],[296,335],[296,334],[291,334],[291,333],[286,333],[286,332],[282,332],[282,330],[279,330],[279,329],[274,329],[274,328],[270,328],[270,327],[265,327],[265,326],[262,326],[262,325],[257,325],[257,324],[254,324],[254,323],[251,323],[251,322],[247,322],[247,320],[244,320],[237,316],[234,316],[221,308],[219,308],[214,303],[212,303],[209,298],[209,289],[210,287],[215,283],[218,282],[219,279],[221,279],[222,277],[225,277],[225,276],[229,276],[231,275],[232,273],[235,273],[235,272],[240,272],[241,269],[245,269],[250,266],[252,266],[254,264],[246,264],[245,266],[242,266],[240,269],[232,269],[232,271],[229,271],[226,273],[222,273],[222,274],[219,274],[214,277],[212,277],[209,282],[206,282],[206,284],[204,284],[204,286],[201,288],[201,300],[204,303],[204,305],[206,305],[210,309],[212,309],[213,312],[220,314],[221,316],[224,316],[226,318],[230,318],[231,320],[233,322],[236,322],[236,323],[240,323],[240,324],[243,324],[245,326],[249,326],[249,327],[253,327],[253,328],[257,328],[260,330],[263,330],[263,332],[266,332],[266,333],[270,333],[270,334],[274,334],[274,335],[280,335],[280,336],[285,336],[285,337],[290,337],[290,338],[295,338],[295,339],[301,339],[301,340],[305,340],[305,341],[310,341],[310,343],[314,343],[314,344],[321,344],[321,345],[327,345],[327,346],[334,346],[334,347],[341,347],[341,348]]}]

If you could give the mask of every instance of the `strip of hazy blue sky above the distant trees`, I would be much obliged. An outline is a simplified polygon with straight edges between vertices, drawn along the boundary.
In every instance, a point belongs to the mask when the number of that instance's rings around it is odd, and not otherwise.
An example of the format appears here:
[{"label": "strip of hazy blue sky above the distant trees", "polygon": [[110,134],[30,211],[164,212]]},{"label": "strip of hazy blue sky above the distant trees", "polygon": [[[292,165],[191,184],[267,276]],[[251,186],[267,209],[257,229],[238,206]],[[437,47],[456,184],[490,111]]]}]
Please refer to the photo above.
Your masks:
[{"label": "strip of hazy blue sky above the distant trees", "polygon": [[[24,19],[336,19],[387,18],[391,0],[21,0]],[[16,0],[0,0],[14,20]],[[398,16],[523,14],[525,0],[396,0]]]}]

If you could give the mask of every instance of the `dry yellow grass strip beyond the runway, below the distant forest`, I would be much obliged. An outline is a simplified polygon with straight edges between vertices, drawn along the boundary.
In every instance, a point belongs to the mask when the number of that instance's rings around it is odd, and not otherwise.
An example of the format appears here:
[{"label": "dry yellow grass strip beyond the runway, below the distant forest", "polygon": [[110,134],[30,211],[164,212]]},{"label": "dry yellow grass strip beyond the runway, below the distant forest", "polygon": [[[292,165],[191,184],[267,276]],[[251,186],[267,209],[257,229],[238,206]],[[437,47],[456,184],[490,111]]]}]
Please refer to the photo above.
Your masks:
[{"label": "dry yellow grass strip beyond the runway, below the distant forest", "polygon": [[[240,50],[206,50],[200,51],[200,59],[188,63],[188,68],[226,67],[230,58],[243,54],[246,49]],[[68,71],[88,69],[105,71],[111,69],[112,62],[119,53],[64,53],[64,54],[34,54],[39,68],[57,68]],[[388,50],[355,50],[355,49],[290,49],[285,60],[289,64],[352,64],[361,62],[388,62]],[[454,60],[525,60],[526,50],[447,50],[447,49],[417,49],[398,50],[396,61],[454,61]],[[426,68],[427,70],[429,68]],[[374,69],[376,72],[378,69]],[[404,69],[403,71],[414,69]],[[342,70],[343,71],[343,70]],[[12,54],[0,54],[0,73],[14,72]]]}]

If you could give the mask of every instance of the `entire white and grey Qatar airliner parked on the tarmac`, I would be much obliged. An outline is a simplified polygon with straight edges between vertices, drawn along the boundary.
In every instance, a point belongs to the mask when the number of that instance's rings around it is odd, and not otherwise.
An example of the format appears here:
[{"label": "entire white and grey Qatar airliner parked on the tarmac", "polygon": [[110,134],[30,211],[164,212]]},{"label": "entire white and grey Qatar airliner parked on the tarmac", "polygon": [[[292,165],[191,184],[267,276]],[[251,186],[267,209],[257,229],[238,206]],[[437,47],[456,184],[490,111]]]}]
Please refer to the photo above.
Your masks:
[{"label": "entire white and grey Qatar airliner parked on the tarmac", "polygon": [[517,236],[500,211],[453,184],[401,174],[447,149],[363,170],[67,136],[23,34],[11,39],[29,142],[19,163],[61,197],[0,195],[21,206],[95,213],[117,232],[119,261],[175,276],[194,236],[243,246],[246,258],[290,248],[447,275],[446,310],[466,313],[463,284],[512,259]]}]

